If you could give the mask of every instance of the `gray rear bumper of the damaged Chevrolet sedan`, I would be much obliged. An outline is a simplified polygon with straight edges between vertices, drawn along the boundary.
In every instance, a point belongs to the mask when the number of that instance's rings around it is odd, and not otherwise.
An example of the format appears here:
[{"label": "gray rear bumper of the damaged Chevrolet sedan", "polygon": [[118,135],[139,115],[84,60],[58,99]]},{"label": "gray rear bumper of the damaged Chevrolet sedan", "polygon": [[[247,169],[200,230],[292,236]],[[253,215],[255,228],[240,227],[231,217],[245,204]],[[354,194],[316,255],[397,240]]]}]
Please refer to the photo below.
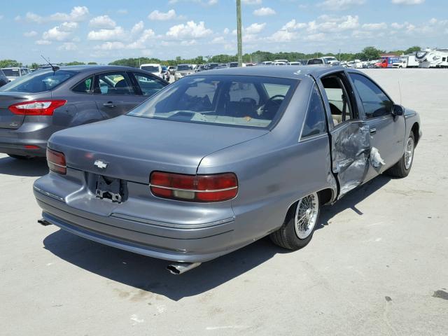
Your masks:
[{"label": "gray rear bumper of the damaged Chevrolet sedan", "polygon": [[[123,218],[120,216],[99,216],[74,209],[63,200],[44,190],[34,188],[38,205],[43,209],[43,218],[59,228],[80,237],[126,251],[148,255],[153,258],[175,262],[205,262],[253,241],[241,242],[235,239],[235,218],[203,223],[202,225],[177,225],[166,227],[166,223]],[[144,224],[144,230],[130,230]],[[239,243],[235,244],[235,241]]]}]

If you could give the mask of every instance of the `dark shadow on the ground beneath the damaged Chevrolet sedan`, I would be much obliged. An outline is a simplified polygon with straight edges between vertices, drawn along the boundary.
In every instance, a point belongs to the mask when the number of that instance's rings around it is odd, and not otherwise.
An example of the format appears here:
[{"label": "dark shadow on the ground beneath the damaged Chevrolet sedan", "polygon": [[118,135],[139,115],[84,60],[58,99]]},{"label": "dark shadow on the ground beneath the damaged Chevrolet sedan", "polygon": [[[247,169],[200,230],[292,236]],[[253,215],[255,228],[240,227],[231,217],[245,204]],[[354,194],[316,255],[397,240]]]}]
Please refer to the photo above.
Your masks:
[{"label": "dark shadow on the ground beneath the damaged Chevrolet sedan", "polygon": [[[340,211],[356,209],[358,202],[389,180],[385,176],[379,176],[346,195],[332,207],[323,207],[320,221],[323,224],[320,227],[328,225],[330,218]],[[158,294],[177,301],[183,297],[204,293],[261,265],[276,253],[290,252],[275,246],[265,237],[221,258],[204,262],[200,267],[185,274],[175,276],[165,269],[169,263],[165,260],[97,244],[64,230],[48,235],[43,244],[48,251],[73,265],[134,287],[128,291],[117,289],[120,297],[129,297],[131,300],[148,300],[152,294]]]}]

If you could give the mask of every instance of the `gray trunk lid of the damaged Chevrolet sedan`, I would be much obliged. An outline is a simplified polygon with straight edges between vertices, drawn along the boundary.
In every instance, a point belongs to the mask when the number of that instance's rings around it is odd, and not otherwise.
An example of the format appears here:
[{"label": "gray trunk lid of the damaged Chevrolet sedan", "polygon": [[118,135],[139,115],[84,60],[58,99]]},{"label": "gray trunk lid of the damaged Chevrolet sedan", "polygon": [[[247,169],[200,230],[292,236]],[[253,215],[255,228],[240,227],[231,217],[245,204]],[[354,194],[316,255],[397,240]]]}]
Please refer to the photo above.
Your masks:
[{"label": "gray trunk lid of the damaged Chevrolet sedan", "polygon": [[[196,174],[205,156],[267,132],[120,116],[56,132],[48,146],[64,153],[68,167],[148,183],[149,175],[155,170]],[[96,160],[107,167],[95,166]]]}]

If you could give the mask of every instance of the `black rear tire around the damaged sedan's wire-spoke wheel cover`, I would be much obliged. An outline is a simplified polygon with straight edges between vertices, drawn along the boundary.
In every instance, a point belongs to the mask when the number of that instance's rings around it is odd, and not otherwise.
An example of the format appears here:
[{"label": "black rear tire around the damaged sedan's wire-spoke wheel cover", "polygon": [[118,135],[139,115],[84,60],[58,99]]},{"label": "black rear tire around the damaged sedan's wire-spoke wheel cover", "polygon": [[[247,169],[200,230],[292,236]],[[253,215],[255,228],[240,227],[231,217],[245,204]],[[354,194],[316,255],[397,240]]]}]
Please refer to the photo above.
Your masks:
[{"label": "black rear tire around the damaged sedan's wire-spoke wheel cover", "polygon": [[300,239],[295,231],[295,214],[297,210],[297,205],[300,202],[299,200],[294,204],[293,207],[290,207],[288,214],[286,214],[285,221],[283,225],[281,225],[281,228],[279,228],[279,230],[276,230],[275,232],[272,232],[269,235],[269,238],[274,244],[293,251],[299,250],[300,248],[307,246],[307,244],[309,243],[309,241],[311,241],[311,238],[313,237],[314,230],[316,230],[316,226],[318,225],[319,214],[321,211],[318,194],[316,193],[314,195],[316,195],[315,202],[316,204],[318,204],[318,209],[316,214],[316,223],[314,224],[314,228],[312,228],[308,237]]}]

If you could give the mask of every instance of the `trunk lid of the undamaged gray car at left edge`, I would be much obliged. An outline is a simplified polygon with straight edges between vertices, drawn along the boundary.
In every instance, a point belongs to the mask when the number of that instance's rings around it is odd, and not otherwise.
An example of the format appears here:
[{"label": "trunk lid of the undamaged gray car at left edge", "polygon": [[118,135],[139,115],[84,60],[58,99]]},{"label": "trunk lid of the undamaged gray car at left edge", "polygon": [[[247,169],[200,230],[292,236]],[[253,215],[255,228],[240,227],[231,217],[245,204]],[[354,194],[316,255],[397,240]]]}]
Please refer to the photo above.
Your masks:
[{"label": "trunk lid of the undamaged gray car at left edge", "polygon": [[33,100],[34,94],[26,92],[0,92],[0,128],[17,130],[22,126],[25,116],[11,112],[8,107],[27,100]]}]

